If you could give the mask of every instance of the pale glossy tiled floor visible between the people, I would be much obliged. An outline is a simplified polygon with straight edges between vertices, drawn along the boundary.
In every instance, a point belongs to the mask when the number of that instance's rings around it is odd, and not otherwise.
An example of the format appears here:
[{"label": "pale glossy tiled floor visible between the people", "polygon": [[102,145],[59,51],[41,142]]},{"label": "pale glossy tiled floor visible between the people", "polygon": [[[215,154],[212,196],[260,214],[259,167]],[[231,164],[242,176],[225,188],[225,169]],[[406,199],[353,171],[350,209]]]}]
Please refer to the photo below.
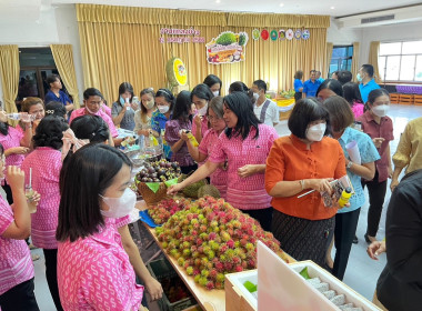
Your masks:
[{"label": "pale glossy tiled floor visible between the people", "polygon": [[[415,106],[398,106],[392,104],[389,116],[393,119],[394,123],[394,138],[395,140],[391,143],[391,152],[394,153],[396,146],[399,143],[400,133],[403,131],[405,124],[409,120],[422,117],[422,107]],[[280,136],[289,134],[287,127],[287,121],[282,121],[277,126],[277,130]],[[385,204],[388,205],[390,198],[390,190],[388,190]],[[382,269],[385,265],[385,254],[380,257],[379,261],[373,261],[366,255],[366,247],[363,239],[363,234],[366,230],[366,214],[368,204],[364,204],[358,225],[358,238],[359,243],[353,245],[352,252],[349,259],[348,270],[345,272],[344,282],[354,289],[356,292],[363,294],[368,299],[372,300],[372,295],[375,289],[378,277],[380,275]],[[384,237],[384,223],[385,223],[385,209],[382,213],[380,230],[378,238],[382,239]],[[43,311],[53,311],[54,307],[51,300],[50,292],[46,282],[46,269],[42,252],[40,250],[34,250],[33,252],[41,255],[41,259],[34,262],[36,267],[36,295],[40,307]]]}]

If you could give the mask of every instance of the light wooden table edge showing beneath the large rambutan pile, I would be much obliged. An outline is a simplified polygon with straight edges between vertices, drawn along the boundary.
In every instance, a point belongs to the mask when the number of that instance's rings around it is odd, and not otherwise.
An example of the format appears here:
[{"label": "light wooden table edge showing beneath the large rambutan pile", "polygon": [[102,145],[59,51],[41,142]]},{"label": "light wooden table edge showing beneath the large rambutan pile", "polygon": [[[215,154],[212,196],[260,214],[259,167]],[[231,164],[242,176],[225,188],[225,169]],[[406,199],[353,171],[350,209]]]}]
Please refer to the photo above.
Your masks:
[{"label": "light wooden table edge showing beneath the large rambutan pile", "polygon": [[[148,207],[144,201],[138,202],[137,208],[139,210],[145,210]],[[189,291],[193,294],[194,299],[198,301],[200,307],[205,311],[224,311],[225,310],[225,291],[224,290],[207,290],[203,287],[198,285],[194,282],[193,277],[190,277],[185,273],[184,269],[178,264],[178,261],[169,255],[162,248],[158,240],[158,237],[155,234],[155,229],[150,228],[147,223],[143,221],[138,221],[138,223],[134,223],[135,227],[143,225],[147,231],[150,232],[150,234],[153,237],[157,244],[162,250],[162,253],[165,255],[165,258],[169,260],[171,265],[174,268],[179,277],[182,279],[184,284],[188,287]],[[139,230],[139,229],[138,229]],[[282,253],[282,258],[288,260],[288,262],[294,262],[295,260],[292,259],[287,253]]]}]

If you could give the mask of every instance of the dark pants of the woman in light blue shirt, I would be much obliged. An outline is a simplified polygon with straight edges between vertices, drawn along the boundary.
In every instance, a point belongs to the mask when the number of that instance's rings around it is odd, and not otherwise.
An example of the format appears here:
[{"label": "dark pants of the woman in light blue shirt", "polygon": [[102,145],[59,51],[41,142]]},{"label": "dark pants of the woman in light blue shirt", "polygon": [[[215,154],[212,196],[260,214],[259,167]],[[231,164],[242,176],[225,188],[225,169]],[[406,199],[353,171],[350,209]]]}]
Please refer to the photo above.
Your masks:
[{"label": "dark pants of the woman in light blue shirt", "polygon": [[360,211],[361,211],[361,208],[351,212],[335,214],[335,228],[334,228],[335,258],[334,258],[333,274],[339,280],[343,280],[344,278],[344,272],[345,272],[345,268],[348,267],[350,250],[352,249],[354,233],[356,232]]}]

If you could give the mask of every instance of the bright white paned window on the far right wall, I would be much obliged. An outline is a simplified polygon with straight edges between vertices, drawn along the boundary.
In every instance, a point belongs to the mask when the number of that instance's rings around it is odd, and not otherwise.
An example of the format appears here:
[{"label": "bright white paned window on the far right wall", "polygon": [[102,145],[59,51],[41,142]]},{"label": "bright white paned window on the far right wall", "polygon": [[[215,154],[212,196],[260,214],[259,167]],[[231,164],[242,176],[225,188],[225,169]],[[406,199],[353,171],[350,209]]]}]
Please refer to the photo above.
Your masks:
[{"label": "bright white paned window on the far right wall", "polygon": [[384,81],[422,82],[422,41],[381,43],[379,69]]}]

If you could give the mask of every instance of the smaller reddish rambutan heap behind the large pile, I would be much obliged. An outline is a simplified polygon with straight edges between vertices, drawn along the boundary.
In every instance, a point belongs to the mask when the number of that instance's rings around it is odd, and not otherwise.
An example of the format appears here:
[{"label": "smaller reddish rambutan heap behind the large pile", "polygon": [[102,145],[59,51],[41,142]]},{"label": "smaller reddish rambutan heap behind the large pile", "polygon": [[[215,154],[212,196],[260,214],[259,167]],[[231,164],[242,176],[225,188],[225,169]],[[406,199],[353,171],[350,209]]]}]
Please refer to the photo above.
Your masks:
[{"label": "smaller reddish rambutan heap behind the large pile", "polygon": [[175,212],[189,207],[191,200],[185,198],[173,198],[160,201],[158,204],[148,208],[148,214],[155,224],[163,224]]}]

